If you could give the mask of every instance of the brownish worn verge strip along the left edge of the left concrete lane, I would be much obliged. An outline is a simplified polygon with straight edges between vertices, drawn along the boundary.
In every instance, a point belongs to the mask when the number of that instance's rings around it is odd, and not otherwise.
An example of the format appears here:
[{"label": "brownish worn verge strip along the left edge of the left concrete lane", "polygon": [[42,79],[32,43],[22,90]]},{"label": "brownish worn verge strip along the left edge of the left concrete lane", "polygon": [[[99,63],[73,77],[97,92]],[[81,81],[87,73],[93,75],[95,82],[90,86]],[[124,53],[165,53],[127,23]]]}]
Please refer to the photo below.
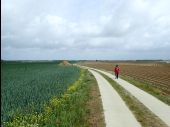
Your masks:
[{"label": "brownish worn verge strip along the left edge of the left concrete lane", "polygon": [[88,127],[105,127],[101,95],[97,81],[91,73],[87,75],[87,78],[89,79],[88,83],[91,84],[91,89],[89,91],[90,98],[87,102]]}]

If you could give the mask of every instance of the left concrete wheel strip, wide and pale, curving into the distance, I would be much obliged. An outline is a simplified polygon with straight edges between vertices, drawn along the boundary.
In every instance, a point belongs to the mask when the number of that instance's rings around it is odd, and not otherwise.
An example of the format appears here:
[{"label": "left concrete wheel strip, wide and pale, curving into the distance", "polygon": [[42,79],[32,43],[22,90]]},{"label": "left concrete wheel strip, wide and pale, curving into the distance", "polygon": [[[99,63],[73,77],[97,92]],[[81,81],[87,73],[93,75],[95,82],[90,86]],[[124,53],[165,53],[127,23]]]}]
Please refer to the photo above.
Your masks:
[{"label": "left concrete wheel strip, wide and pale, curving into the distance", "polygon": [[99,86],[106,127],[141,127],[111,84],[98,72],[91,69],[89,71],[94,75]]}]

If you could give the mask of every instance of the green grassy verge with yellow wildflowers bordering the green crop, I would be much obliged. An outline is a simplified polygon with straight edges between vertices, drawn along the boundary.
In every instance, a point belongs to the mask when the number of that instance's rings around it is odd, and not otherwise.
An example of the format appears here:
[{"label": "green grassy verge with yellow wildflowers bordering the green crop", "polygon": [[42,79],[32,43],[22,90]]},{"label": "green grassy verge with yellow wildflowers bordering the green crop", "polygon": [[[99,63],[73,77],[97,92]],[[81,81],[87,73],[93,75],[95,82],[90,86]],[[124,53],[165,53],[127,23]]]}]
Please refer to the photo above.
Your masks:
[{"label": "green grassy verge with yellow wildflowers bordering the green crop", "polygon": [[[94,83],[90,74],[82,70],[79,80],[71,85],[60,97],[53,97],[44,105],[42,113],[22,114],[16,112],[11,121],[3,123],[5,127],[89,127],[88,102]],[[93,97],[92,97],[93,98]],[[94,98],[93,98],[94,100]],[[90,102],[89,102],[90,103]]]}]

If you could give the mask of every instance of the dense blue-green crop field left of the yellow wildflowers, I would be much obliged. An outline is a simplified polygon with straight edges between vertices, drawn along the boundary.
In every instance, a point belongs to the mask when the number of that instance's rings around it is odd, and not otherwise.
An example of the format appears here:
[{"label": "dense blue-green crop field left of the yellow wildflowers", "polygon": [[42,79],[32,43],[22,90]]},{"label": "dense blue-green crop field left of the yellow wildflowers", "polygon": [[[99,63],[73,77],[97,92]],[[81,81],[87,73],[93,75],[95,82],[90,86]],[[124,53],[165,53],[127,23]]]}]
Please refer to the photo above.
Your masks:
[{"label": "dense blue-green crop field left of the yellow wildflowers", "polygon": [[1,62],[1,120],[10,121],[16,111],[41,112],[79,76],[79,68],[57,62]]}]

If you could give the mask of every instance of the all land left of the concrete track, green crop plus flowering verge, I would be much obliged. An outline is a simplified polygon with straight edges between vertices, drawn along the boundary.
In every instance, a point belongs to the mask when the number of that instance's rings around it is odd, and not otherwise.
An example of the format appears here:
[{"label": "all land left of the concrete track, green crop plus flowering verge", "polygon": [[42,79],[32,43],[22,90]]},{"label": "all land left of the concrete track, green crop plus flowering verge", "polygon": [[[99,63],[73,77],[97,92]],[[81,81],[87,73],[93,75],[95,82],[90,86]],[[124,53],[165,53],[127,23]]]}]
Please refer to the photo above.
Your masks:
[{"label": "all land left of the concrete track, green crop plus flowering verge", "polygon": [[104,127],[97,82],[63,62],[1,61],[1,126]]}]

